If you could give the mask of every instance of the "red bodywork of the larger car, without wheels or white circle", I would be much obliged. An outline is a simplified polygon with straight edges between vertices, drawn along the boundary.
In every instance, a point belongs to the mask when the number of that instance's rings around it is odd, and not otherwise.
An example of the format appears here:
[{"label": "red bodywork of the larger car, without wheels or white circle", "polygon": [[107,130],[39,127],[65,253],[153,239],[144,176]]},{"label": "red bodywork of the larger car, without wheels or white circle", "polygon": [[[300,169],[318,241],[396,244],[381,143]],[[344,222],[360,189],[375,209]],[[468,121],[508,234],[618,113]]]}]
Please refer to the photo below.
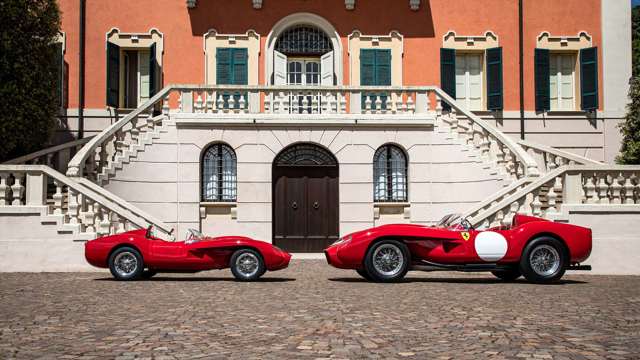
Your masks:
[{"label": "red bodywork of the larger car, without wheels or white circle", "polygon": [[[499,260],[483,260],[476,250],[481,233],[497,233],[506,239],[507,247]],[[493,235],[493,234],[492,234]],[[414,262],[425,260],[437,264],[510,264],[520,261],[526,244],[535,237],[549,235],[564,242],[570,263],[580,263],[591,254],[591,230],[532,216],[516,215],[509,228],[482,231],[463,228],[437,228],[412,224],[382,225],[343,237],[351,240],[336,243],[325,250],[329,264],[341,269],[363,269],[364,257],[376,240],[387,238],[407,244]],[[495,235],[493,235],[495,236]]]}]

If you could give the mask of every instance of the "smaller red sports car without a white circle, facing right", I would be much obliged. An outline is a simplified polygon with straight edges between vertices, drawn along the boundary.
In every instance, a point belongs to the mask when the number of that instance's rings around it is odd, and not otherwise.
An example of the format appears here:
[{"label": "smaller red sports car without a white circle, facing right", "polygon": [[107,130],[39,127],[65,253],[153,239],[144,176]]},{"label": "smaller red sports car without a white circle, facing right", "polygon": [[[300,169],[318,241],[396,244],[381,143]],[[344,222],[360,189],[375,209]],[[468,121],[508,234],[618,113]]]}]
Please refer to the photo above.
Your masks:
[{"label": "smaller red sports car without a white circle, facing right", "polygon": [[205,237],[189,230],[185,241],[165,241],[152,228],[105,236],[85,244],[89,264],[109,268],[118,280],[150,278],[158,272],[231,268],[236,279],[257,280],[267,270],[289,266],[291,254],[242,236]]}]

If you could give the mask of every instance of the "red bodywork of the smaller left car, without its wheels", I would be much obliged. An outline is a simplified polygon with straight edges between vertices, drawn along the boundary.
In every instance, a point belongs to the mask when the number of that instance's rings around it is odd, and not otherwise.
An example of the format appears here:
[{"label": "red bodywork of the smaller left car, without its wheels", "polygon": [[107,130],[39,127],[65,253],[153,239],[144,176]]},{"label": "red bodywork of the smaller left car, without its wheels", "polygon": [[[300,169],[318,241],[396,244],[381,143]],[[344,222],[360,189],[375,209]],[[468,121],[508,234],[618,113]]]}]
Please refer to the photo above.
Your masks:
[{"label": "red bodywork of the smaller left car, without its wheels", "polygon": [[146,230],[133,230],[105,236],[85,244],[85,258],[89,264],[109,267],[111,252],[122,246],[137,249],[145,267],[159,271],[203,271],[229,267],[231,255],[240,248],[258,251],[269,271],[284,269],[291,254],[264,241],[243,236],[205,237],[190,244],[184,241],[165,241],[146,237]]}]

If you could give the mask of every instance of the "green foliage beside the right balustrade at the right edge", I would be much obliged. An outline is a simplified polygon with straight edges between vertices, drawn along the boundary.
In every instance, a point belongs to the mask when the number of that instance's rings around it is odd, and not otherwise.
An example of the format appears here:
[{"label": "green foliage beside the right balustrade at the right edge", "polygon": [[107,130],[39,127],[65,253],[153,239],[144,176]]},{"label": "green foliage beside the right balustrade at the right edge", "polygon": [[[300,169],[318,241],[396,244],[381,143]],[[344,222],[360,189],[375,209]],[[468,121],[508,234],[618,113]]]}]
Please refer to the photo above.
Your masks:
[{"label": "green foliage beside the right balustrade at the right edge", "polygon": [[631,80],[631,103],[627,105],[625,121],[620,124],[622,149],[617,161],[621,164],[640,164],[640,76]]}]

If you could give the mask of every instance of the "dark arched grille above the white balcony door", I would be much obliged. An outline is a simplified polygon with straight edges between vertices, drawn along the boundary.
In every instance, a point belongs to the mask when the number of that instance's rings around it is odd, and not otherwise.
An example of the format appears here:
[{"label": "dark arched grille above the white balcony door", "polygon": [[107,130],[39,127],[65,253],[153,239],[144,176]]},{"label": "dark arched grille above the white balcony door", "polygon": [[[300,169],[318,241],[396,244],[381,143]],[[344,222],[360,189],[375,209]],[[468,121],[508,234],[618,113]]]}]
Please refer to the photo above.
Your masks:
[{"label": "dark arched grille above the white balcony door", "polygon": [[276,40],[275,49],[287,56],[321,56],[332,51],[333,44],[324,31],[299,25],[285,30]]}]

